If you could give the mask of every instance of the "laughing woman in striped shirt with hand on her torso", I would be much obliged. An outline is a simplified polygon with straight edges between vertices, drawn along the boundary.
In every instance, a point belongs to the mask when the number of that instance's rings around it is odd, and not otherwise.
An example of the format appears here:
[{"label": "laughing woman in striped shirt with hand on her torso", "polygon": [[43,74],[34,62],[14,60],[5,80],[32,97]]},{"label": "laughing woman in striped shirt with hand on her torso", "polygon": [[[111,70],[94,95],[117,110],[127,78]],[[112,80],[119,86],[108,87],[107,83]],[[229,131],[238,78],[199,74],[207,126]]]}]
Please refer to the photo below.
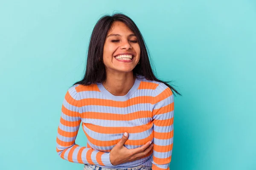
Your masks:
[{"label": "laughing woman in striped shirt with hand on her torso", "polygon": [[[84,170],[169,170],[171,89],[179,94],[154,76],[135,23],[124,14],[102,17],[90,37],[84,78],[65,95],[58,155]],[[81,122],[87,147],[75,143]]]}]

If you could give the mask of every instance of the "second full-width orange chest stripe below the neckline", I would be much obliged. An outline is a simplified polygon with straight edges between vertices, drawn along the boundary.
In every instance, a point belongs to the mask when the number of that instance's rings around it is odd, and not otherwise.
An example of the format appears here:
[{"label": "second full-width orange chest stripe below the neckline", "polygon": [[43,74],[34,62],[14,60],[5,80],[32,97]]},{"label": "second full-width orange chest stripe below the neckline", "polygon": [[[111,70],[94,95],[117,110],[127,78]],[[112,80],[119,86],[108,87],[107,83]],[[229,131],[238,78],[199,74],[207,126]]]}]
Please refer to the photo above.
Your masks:
[{"label": "second full-width orange chest stripe below the neckline", "polygon": [[138,118],[152,117],[151,111],[137,111],[129,114],[113,114],[113,113],[99,113],[99,112],[84,112],[81,118],[84,119],[101,119],[101,120],[135,120]]}]

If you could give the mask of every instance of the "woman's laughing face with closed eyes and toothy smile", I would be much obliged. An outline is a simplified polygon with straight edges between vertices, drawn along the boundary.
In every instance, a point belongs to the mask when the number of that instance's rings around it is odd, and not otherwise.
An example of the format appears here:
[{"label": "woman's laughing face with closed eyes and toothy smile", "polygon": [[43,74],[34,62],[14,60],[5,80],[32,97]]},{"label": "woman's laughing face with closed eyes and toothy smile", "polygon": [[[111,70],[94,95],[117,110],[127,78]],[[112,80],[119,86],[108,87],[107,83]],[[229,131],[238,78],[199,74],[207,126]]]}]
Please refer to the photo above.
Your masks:
[{"label": "woman's laughing face with closed eyes and toothy smile", "polygon": [[103,62],[106,71],[130,72],[140,60],[140,45],[125,23],[115,21],[108,31]]}]

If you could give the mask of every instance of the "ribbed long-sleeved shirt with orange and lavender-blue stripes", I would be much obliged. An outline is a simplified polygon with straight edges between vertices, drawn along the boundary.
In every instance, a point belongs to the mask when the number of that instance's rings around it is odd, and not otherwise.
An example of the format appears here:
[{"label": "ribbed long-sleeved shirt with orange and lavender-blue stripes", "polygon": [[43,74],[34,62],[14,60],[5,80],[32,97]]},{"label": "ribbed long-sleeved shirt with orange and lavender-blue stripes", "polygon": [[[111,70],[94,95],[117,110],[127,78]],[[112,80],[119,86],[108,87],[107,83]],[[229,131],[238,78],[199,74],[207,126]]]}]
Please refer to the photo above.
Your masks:
[{"label": "ribbed long-sleeved shirt with orange and lavender-blue stripes", "polygon": [[[164,83],[140,76],[125,96],[114,96],[102,83],[73,85],[64,97],[56,149],[70,162],[106,168],[143,164],[152,170],[169,170],[173,119],[173,94]],[[75,142],[80,123],[87,137],[86,147]],[[153,142],[153,149],[139,160],[112,165],[109,152],[125,132],[129,133],[124,144],[128,149],[148,141]]]}]

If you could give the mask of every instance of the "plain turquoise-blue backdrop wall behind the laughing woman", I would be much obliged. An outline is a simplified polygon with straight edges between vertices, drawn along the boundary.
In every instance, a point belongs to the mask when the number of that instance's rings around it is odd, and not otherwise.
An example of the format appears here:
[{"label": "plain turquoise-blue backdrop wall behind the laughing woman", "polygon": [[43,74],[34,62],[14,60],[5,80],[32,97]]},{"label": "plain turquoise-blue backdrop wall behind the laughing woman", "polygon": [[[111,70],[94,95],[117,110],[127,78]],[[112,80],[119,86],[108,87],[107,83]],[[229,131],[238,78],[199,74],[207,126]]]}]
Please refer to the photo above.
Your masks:
[{"label": "plain turquoise-blue backdrop wall behind the laughing woman", "polygon": [[[82,170],[55,140],[104,14],[137,24],[157,75],[175,80],[170,170],[256,169],[255,0],[0,2],[0,169]],[[86,146],[82,130],[76,142]]]}]

